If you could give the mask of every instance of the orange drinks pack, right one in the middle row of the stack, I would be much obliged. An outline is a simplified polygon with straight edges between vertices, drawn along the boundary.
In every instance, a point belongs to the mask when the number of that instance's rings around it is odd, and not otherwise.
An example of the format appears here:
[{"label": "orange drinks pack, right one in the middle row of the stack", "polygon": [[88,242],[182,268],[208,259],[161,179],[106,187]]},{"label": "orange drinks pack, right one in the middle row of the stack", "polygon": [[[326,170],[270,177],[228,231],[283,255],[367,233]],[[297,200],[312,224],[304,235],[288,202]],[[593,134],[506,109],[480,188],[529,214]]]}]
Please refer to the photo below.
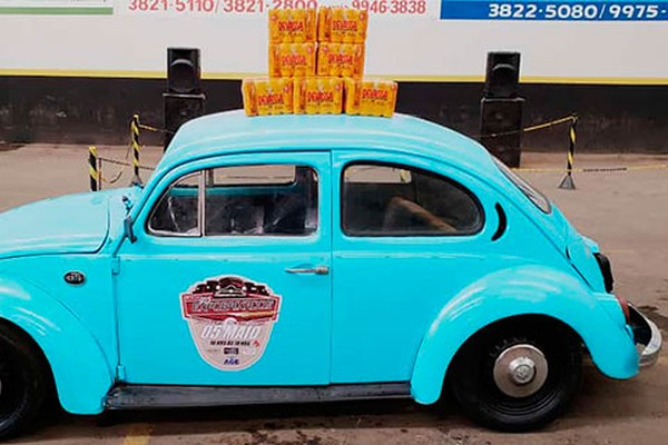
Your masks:
[{"label": "orange drinks pack, right one in the middle row of the stack", "polygon": [[321,43],[317,47],[317,75],[362,78],[364,44]]}]

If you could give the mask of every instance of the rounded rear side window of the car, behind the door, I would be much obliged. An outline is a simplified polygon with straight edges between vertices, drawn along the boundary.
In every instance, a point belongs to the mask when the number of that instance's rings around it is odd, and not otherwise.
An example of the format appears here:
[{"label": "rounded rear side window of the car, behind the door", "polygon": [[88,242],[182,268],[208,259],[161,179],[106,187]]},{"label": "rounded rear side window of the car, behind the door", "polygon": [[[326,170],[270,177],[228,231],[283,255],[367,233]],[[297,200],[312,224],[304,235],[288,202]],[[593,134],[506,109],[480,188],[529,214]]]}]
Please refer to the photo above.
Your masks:
[{"label": "rounded rear side window of the car, behind the door", "polygon": [[482,207],[461,185],[412,167],[348,165],[342,178],[342,226],[353,236],[471,235]]}]

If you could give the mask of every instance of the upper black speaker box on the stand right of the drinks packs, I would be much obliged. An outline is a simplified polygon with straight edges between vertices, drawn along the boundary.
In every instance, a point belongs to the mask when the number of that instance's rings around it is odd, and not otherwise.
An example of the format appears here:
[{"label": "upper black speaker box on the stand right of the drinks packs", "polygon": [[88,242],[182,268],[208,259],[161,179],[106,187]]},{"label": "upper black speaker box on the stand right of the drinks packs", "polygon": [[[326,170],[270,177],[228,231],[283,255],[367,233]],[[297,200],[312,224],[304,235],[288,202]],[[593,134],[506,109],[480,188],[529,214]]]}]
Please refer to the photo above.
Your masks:
[{"label": "upper black speaker box on the stand right of the drinks packs", "polygon": [[514,98],[519,92],[519,52],[488,52],[484,97]]}]

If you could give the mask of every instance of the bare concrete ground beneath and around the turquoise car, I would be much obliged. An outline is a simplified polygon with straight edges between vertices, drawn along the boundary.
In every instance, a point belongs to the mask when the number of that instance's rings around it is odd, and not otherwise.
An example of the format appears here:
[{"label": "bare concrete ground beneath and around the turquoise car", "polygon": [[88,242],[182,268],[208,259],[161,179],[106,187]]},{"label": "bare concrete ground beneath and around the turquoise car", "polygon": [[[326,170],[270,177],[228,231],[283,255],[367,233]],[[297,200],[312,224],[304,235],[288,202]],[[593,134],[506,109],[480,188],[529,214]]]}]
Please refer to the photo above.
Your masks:
[{"label": "bare concrete ground beneath and around the turquoise car", "polygon": [[[100,150],[124,159],[125,148]],[[146,164],[159,158],[146,149]],[[88,188],[81,147],[30,146],[0,151],[0,210]],[[562,167],[563,155],[525,154],[523,167]],[[668,334],[668,156],[580,155],[578,167],[638,168],[576,174],[576,190],[557,188],[561,172],[521,172],[541,188],[613,264],[618,294],[644,307]],[[105,166],[107,178],[119,168]],[[125,172],[119,182],[126,185]],[[76,417],[57,408],[16,443],[50,444],[657,444],[668,443],[668,359],[627,382],[586,368],[573,407],[543,431],[498,434],[472,425],[456,406],[410,402],[131,412]]]}]

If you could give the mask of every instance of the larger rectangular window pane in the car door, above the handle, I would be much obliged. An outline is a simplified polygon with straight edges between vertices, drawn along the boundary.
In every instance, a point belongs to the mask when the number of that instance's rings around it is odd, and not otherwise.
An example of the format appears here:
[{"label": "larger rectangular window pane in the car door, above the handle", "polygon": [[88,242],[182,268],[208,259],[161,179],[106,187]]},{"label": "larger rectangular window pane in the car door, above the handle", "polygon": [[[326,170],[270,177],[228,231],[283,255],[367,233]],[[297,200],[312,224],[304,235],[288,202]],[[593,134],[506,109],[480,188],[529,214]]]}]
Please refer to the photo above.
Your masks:
[{"label": "larger rectangular window pane in the car door, above the handle", "polygon": [[305,236],[317,228],[317,174],[311,167],[222,167],[206,178],[205,236]]}]

